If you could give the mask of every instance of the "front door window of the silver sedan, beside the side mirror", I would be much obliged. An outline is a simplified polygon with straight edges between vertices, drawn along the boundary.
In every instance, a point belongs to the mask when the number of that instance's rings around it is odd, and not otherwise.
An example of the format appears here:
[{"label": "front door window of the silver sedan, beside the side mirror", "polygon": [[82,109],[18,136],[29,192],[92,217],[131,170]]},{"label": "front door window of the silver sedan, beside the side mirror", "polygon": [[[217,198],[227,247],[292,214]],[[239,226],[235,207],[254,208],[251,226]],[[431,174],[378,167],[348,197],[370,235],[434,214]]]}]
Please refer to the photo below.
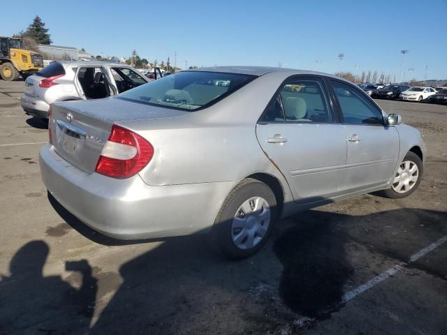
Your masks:
[{"label": "front door window of the silver sedan, beside the side mirror", "polygon": [[383,124],[381,111],[353,87],[331,80],[346,124]]}]

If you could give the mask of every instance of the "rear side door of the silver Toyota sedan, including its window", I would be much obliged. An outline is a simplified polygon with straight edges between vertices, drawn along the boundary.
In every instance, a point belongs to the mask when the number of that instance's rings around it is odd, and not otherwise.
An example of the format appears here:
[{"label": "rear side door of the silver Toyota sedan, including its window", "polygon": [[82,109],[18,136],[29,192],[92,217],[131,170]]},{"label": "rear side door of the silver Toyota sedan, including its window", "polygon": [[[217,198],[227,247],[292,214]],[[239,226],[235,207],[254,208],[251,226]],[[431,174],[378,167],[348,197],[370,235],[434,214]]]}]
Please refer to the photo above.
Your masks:
[{"label": "rear side door of the silver Toyota sedan, including its window", "polygon": [[336,123],[321,77],[291,77],[281,85],[256,126],[270,160],[288,181],[295,202],[339,195],[346,136]]}]

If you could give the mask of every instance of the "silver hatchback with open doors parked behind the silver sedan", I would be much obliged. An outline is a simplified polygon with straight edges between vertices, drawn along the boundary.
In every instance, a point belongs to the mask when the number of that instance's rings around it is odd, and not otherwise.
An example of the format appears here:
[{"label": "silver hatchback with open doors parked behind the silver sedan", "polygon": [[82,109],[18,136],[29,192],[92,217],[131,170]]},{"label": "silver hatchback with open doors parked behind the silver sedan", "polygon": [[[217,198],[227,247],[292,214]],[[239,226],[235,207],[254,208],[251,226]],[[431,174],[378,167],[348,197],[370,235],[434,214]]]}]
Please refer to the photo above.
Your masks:
[{"label": "silver hatchback with open doors parked behind the silver sedan", "polygon": [[107,98],[149,82],[135,68],[103,61],[53,61],[25,80],[26,114],[48,119],[50,104]]}]

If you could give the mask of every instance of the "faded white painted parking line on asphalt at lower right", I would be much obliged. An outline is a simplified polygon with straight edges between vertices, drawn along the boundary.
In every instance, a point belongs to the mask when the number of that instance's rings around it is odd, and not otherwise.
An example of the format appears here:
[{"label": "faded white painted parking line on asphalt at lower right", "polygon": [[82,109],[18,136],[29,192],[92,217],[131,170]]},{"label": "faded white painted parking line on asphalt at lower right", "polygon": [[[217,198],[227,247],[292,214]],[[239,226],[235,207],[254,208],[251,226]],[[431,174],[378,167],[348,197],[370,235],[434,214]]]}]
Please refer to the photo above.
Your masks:
[{"label": "faded white painted parking line on asphalt at lower right", "polygon": [[[439,239],[436,242],[430,244],[430,246],[426,246],[425,248],[421,249],[417,253],[411,255],[411,257],[409,259],[409,263],[410,262],[416,262],[416,260],[418,260],[419,258],[427,255],[427,253],[430,253],[430,251],[434,251],[434,249],[436,249],[438,246],[441,246],[441,244],[444,244],[445,242],[447,242],[447,235],[445,235],[444,237],[441,237],[441,239]],[[379,276],[375,276],[374,278],[370,279],[366,283],[360,285],[358,288],[354,288],[353,290],[347,292],[342,297],[342,301],[340,301],[340,303],[337,304],[337,306],[339,306],[341,304],[344,304],[346,301],[349,301],[349,300],[357,297],[362,292],[365,292],[366,290],[369,290],[370,288],[373,288],[375,285],[377,285],[378,283],[381,283],[386,278],[390,278],[390,276],[393,276],[398,271],[404,269],[404,267],[406,267],[406,265],[407,265],[407,263],[400,262],[399,264],[396,264],[394,267],[390,267],[390,269],[388,269],[388,270],[384,271],[383,273],[379,274]],[[333,309],[336,309],[337,306],[335,306]],[[315,319],[313,319],[313,318],[302,317],[302,318],[299,318],[299,319],[293,321],[293,325],[298,325],[299,326],[299,325],[305,324],[306,322],[309,323],[309,322],[312,322],[314,320]],[[285,334],[287,334],[286,328],[284,330],[285,330]]]}]

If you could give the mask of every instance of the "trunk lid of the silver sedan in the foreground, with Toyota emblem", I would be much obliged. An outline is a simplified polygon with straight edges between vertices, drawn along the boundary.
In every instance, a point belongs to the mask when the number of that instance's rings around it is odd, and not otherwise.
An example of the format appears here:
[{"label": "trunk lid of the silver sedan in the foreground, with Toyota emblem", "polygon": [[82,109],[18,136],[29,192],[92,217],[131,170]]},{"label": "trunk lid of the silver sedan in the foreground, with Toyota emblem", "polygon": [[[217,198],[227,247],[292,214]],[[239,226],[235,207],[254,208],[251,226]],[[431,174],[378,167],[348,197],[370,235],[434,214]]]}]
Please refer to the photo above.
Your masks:
[{"label": "trunk lid of the silver sedan in the foreground, with Toyota emblem", "polygon": [[54,150],[68,163],[93,173],[113,124],[122,121],[180,117],[189,112],[117,98],[52,105],[50,132]]}]

